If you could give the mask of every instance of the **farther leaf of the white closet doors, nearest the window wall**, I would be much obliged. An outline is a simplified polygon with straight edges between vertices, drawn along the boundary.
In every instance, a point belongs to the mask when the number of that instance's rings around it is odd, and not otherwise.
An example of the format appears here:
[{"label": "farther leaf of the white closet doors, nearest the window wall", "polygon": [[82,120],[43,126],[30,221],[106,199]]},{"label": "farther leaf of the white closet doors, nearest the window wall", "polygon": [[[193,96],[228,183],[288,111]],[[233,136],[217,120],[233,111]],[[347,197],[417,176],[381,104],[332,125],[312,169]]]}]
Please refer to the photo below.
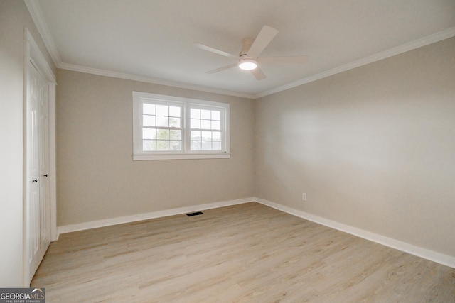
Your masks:
[{"label": "farther leaf of the white closet doors, nearest the window wall", "polygon": [[39,179],[41,260],[50,244],[49,88],[38,72]]}]

